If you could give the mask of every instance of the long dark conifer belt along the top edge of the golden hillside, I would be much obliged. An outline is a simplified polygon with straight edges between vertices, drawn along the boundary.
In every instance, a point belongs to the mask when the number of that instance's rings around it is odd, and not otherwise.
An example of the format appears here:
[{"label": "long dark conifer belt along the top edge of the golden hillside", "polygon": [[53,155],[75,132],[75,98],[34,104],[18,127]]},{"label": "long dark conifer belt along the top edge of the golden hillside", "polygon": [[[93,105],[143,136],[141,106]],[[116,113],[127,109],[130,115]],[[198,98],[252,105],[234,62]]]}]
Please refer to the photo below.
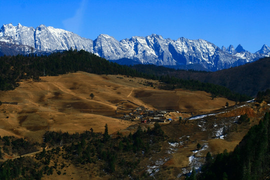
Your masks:
[{"label": "long dark conifer belt along the top edge of the golden hillside", "polygon": [[[204,90],[213,96],[224,96],[235,101],[248,100],[246,95],[233,93],[226,87],[198,80],[183,80],[170,75],[157,74],[159,69],[173,72],[174,69],[156,66],[140,66],[142,71],[131,66],[119,65],[84,50],[68,50],[52,53],[48,56],[16,55],[0,57],[0,90],[14,89],[20,79],[33,78],[38,80],[43,75],[59,75],[78,70],[96,74],[122,74],[143,77],[164,82],[161,88],[185,88]],[[160,70],[161,71],[161,70]],[[162,70],[163,71],[163,70]]]}]

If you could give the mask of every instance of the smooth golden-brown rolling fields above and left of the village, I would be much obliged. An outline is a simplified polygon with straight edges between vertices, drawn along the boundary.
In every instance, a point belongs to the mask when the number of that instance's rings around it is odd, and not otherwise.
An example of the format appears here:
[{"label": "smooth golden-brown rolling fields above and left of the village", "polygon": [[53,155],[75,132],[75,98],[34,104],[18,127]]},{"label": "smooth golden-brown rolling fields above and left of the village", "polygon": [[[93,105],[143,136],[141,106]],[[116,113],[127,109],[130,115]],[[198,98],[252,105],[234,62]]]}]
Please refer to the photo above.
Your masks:
[{"label": "smooth golden-brown rolling fields above and left of the village", "polygon": [[[1,91],[0,135],[15,135],[42,141],[46,130],[82,132],[93,128],[109,133],[124,129],[131,121],[113,118],[117,111],[144,106],[150,109],[175,109],[192,113],[221,108],[225,98],[211,99],[202,91],[159,90],[144,82],[157,81],[121,75],[96,75],[86,72],[40,77],[19,82],[15,90]],[[90,93],[94,94],[91,99]]]}]

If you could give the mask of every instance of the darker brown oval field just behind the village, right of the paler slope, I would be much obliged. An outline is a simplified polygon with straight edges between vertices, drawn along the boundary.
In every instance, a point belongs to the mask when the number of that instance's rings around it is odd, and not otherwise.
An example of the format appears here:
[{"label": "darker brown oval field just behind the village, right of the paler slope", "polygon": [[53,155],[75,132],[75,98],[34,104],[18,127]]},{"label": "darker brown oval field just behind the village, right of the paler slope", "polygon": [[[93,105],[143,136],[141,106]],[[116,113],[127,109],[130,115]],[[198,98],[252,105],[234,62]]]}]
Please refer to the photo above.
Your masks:
[{"label": "darker brown oval field just behind the village, right of the paler slope", "polygon": [[209,112],[225,105],[235,102],[226,98],[210,97],[204,91],[190,90],[159,90],[159,89],[137,89],[135,96],[157,109],[173,109],[181,112],[192,112],[194,114]]}]

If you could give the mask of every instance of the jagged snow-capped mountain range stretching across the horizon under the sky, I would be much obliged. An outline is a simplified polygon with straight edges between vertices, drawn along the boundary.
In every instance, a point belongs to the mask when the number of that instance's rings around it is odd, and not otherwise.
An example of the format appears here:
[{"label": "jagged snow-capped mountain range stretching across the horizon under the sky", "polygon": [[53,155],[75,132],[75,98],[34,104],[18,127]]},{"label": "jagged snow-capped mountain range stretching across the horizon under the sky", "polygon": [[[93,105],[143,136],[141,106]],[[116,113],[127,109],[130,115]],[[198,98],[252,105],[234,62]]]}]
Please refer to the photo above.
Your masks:
[{"label": "jagged snow-capped mountain range stretching across the horizon under the sky", "polygon": [[[48,54],[57,50],[84,49],[108,60],[133,59],[136,63],[156,64],[174,67],[199,65],[208,70],[219,70],[238,66],[270,56],[270,48],[263,45],[255,53],[244,50],[239,44],[221,49],[203,39],[164,39],[161,35],[146,37],[133,36],[116,40],[112,36],[100,34],[94,40],[81,37],[73,32],[39,25],[36,28],[11,23],[0,28],[0,55]],[[11,53],[12,52],[12,53]]]}]

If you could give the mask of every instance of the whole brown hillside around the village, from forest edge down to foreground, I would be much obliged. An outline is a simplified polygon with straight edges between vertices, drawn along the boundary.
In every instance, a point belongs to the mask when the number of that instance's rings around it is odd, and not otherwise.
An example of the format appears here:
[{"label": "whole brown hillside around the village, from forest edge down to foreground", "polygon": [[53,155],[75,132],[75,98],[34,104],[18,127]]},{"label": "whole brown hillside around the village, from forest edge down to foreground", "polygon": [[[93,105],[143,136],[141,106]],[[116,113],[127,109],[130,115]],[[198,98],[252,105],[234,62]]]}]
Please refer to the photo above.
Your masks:
[{"label": "whole brown hillside around the village, from forest edge down to foreground", "polygon": [[[82,71],[43,76],[39,80],[22,80],[14,90],[0,93],[0,100],[3,102],[0,105],[0,136],[14,136],[9,137],[11,139],[22,137],[30,143],[39,144],[35,147],[35,155],[30,153],[12,162],[41,162],[39,164],[44,166],[41,165],[38,174],[35,174],[40,178],[42,176],[41,179],[109,179],[128,178],[128,175],[146,179],[184,179],[192,167],[198,168],[202,165],[208,151],[215,154],[224,149],[233,150],[248,129],[257,124],[263,113],[270,108],[270,104],[265,101],[235,104],[234,101],[223,97],[212,99],[211,94],[203,91],[161,90],[157,88],[159,83],[161,82],[157,80],[139,77],[97,75]],[[90,93],[94,94],[93,98],[90,97]],[[229,107],[224,107],[226,102],[229,103]],[[151,135],[156,129],[153,123],[120,118],[142,106],[150,111],[171,110],[165,116],[172,121],[160,123],[165,134],[162,138],[160,134]],[[245,113],[250,122],[238,123],[239,115]],[[178,120],[179,116],[183,117],[182,121]],[[108,126],[110,143],[102,140],[105,124]],[[96,135],[85,136],[87,133],[92,134],[89,131],[91,128]],[[70,135],[78,132],[73,134],[77,135],[78,140],[63,146],[60,141],[60,147],[56,149],[52,148],[57,147],[54,146],[55,142],[47,140],[47,136],[44,135],[62,133],[66,136],[66,132]],[[130,132],[133,135],[130,135]],[[146,141],[141,143],[142,145],[147,144],[147,141],[151,142],[149,151],[136,149],[142,147],[135,148],[136,134],[144,134],[143,139]],[[79,144],[86,143],[83,142],[84,137],[85,140],[92,139],[86,141],[87,146],[96,148],[87,162],[83,160],[84,156],[77,158],[79,154],[83,155],[84,151],[89,150],[85,145],[81,146],[84,149],[83,153],[74,151],[70,154],[68,150],[79,148]],[[13,147],[8,147],[8,151],[4,141],[6,138],[5,136],[0,139],[0,146],[4,149],[1,150],[3,158],[0,161],[4,164],[9,162],[7,159],[19,157],[17,152],[11,153],[14,151]],[[99,141],[96,138],[99,138]],[[128,150],[126,138],[133,138],[133,150]],[[121,139],[123,147],[120,146]],[[11,142],[12,145],[16,144],[15,140]],[[99,147],[101,142],[103,147]],[[196,147],[197,144],[200,144],[200,148]],[[47,149],[42,151],[42,146]],[[117,158],[115,166],[108,168],[107,160],[113,158],[109,150],[117,153],[114,154]],[[42,154],[47,155],[42,157]],[[47,161],[47,158],[50,160]],[[127,160],[128,164],[122,166],[125,163],[123,159]],[[114,171],[109,170],[111,168]],[[123,168],[127,168],[128,171],[124,171]],[[39,172],[43,172],[43,175],[40,176]]]}]

